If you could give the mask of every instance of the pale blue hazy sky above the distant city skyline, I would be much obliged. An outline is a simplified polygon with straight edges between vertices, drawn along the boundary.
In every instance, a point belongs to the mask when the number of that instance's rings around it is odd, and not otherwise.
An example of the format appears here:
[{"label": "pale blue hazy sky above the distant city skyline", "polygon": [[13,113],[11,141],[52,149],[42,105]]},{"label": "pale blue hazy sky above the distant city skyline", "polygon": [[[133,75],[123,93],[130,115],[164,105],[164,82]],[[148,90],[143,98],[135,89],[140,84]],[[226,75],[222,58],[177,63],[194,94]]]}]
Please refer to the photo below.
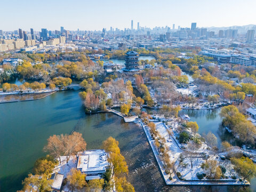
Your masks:
[{"label": "pale blue hazy sky above the distant city skyline", "polygon": [[102,30],[256,24],[255,0],[1,0],[2,30]]}]

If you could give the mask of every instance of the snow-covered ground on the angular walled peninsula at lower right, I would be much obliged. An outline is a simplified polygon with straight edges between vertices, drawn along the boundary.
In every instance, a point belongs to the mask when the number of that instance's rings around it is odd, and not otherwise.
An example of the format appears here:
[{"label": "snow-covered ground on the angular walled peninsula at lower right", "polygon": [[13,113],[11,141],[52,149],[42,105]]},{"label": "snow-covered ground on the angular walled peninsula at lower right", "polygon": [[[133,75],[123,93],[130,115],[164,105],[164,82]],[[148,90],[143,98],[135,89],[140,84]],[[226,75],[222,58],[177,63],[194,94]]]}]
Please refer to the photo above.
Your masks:
[{"label": "snow-covered ground on the angular walled peninsula at lower right", "polygon": [[[159,154],[156,150],[156,147],[154,146],[154,141],[150,137],[150,132],[148,130],[148,127],[143,125],[141,122],[141,125],[143,129],[145,130],[145,133],[147,135],[147,138],[149,140],[150,146],[153,150],[153,153],[156,157],[157,163],[159,165],[159,168],[162,172],[162,175],[165,179],[166,185],[244,185],[244,183],[241,183],[239,180],[233,180],[230,177],[235,175],[238,178],[237,173],[233,169],[233,165],[229,161],[221,161],[218,156],[213,156],[212,158],[218,159],[219,165],[222,165],[226,168],[226,173],[229,178],[228,179],[218,179],[218,180],[198,180],[196,177],[197,172],[203,172],[203,169],[201,168],[201,164],[205,161],[203,158],[195,158],[193,160],[193,169],[191,169],[191,164],[188,158],[185,158],[183,163],[187,164],[186,167],[178,167],[179,161],[178,158],[180,154],[184,151],[183,149],[180,148],[180,144],[178,141],[170,137],[166,129],[170,129],[168,126],[166,126],[162,122],[155,122],[153,121],[156,125],[156,130],[158,133],[161,135],[161,137],[164,137],[166,140],[165,146],[169,148],[169,155],[170,155],[170,160],[175,161],[175,171],[179,171],[182,175],[182,177],[185,180],[180,180],[175,173],[171,174],[172,180],[169,179],[170,175],[167,175],[165,173],[165,169],[163,166],[163,162],[159,158]],[[177,124],[174,124],[174,127],[177,126]],[[202,145],[197,152],[202,152],[205,151],[205,145]],[[189,181],[186,181],[189,180]],[[191,181],[192,180],[192,181]],[[194,180],[194,181],[193,181]],[[249,185],[249,183],[246,183],[245,185]]]}]

